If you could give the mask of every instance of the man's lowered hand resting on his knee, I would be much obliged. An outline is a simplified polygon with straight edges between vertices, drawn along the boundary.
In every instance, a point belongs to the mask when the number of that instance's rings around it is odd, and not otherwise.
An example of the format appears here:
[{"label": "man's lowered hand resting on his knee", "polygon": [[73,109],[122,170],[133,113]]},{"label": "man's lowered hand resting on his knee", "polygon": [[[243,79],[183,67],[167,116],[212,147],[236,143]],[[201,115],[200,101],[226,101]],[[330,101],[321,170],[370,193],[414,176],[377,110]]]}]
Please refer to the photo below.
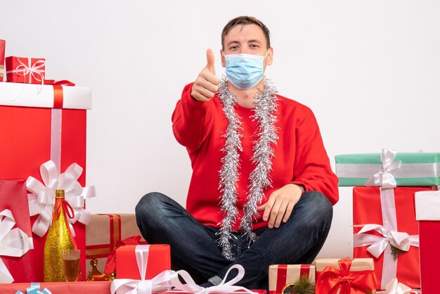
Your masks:
[{"label": "man's lowered hand resting on his knee", "polygon": [[264,210],[263,220],[268,220],[268,227],[272,229],[273,226],[278,228],[281,221],[287,222],[293,207],[301,198],[304,188],[295,184],[287,184],[283,188],[279,188],[271,193],[269,199],[264,205],[261,205],[257,210]]}]

